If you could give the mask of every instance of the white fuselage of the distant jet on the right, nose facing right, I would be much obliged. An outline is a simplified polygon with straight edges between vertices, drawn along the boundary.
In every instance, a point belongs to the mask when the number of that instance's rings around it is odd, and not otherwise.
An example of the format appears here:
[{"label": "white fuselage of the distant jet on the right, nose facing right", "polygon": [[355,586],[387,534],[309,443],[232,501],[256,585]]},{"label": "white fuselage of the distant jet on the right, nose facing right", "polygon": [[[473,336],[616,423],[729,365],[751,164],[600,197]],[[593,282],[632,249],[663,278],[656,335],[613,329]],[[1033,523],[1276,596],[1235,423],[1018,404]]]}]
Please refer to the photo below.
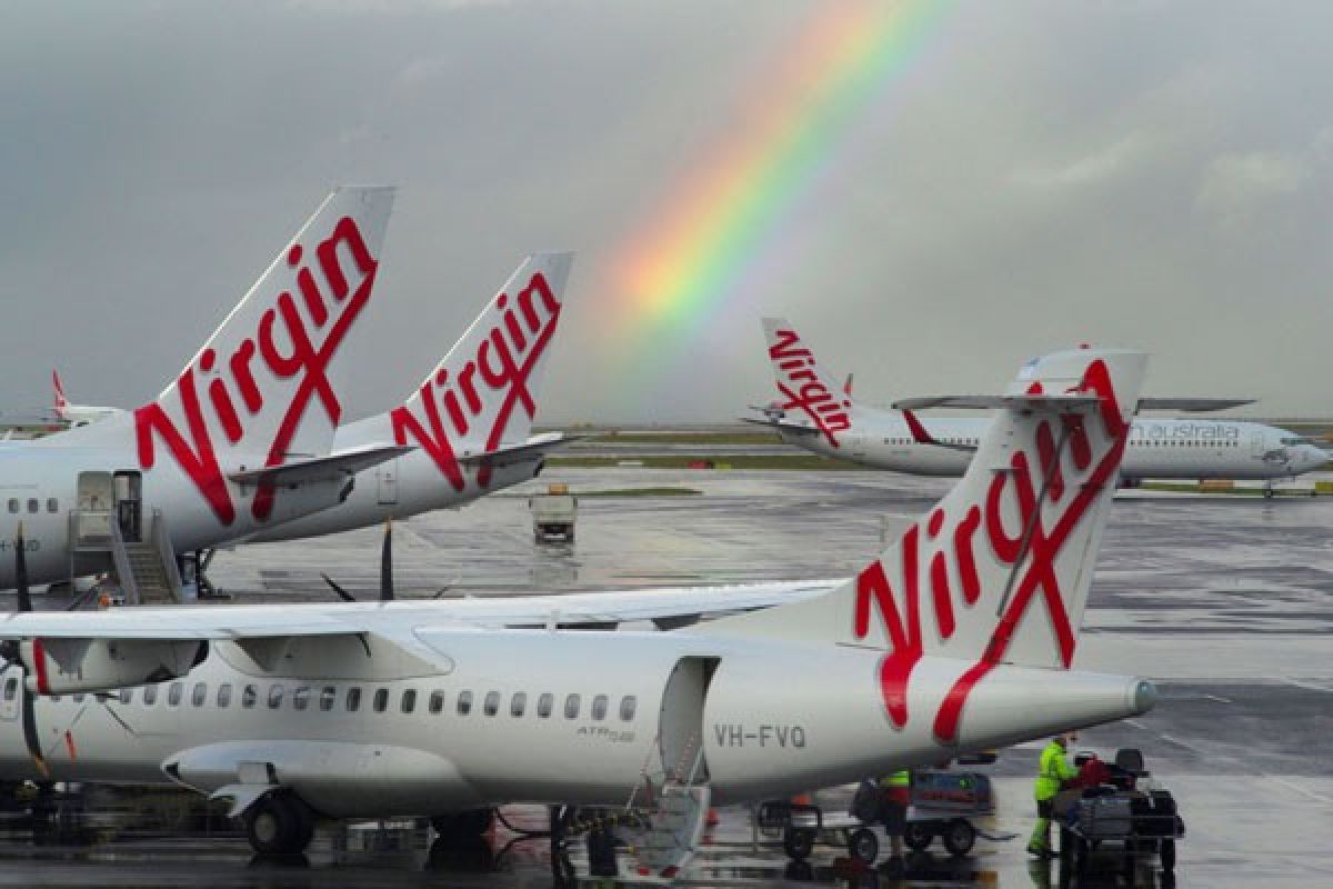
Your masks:
[{"label": "white fuselage of the distant jet on the right, nose facing right", "polygon": [[[941,444],[976,446],[986,419],[921,419]],[[972,452],[916,441],[894,412],[857,408],[850,428],[829,436],[778,431],[788,444],[852,460],[876,469],[920,476],[961,476]],[[1293,478],[1318,469],[1328,454],[1286,429],[1238,420],[1148,420],[1133,423],[1121,477],[1140,478]]]}]

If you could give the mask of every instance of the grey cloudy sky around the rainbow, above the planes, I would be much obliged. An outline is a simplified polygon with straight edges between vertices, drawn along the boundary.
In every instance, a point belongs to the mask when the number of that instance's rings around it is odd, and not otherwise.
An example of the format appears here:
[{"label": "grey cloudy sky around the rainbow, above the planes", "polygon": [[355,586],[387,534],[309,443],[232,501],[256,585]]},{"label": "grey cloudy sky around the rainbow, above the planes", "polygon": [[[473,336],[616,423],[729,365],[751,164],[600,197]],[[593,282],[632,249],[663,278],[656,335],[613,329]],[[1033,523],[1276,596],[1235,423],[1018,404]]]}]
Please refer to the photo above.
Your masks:
[{"label": "grey cloudy sky around the rainbow, above the planes", "polygon": [[764,273],[636,324],[608,269],[838,5],[7,3],[0,407],[52,365],[76,401],[151,399],[329,187],[387,181],[353,416],[548,248],[579,252],[551,421],[736,416],[765,313],[872,401],[1093,341],[1152,351],[1158,395],[1333,415],[1324,1],[949,4],[769,208]]}]

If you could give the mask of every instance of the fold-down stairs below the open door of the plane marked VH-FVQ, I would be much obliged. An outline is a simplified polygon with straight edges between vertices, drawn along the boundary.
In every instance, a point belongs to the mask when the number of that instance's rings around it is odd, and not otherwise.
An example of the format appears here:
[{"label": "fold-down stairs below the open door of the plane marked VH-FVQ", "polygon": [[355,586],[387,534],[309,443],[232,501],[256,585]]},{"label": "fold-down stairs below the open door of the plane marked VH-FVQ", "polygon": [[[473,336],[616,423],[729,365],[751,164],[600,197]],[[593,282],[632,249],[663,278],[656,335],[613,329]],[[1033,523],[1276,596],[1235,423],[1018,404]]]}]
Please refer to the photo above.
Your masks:
[{"label": "fold-down stairs below the open door of the plane marked VH-FVQ", "polygon": [[640,874],[674,877],[694,856],[708,824],[712,797],[706,784],[696,782],[702,765],[701,738],[694,737],[674,768],[663,776],[656,793],[651,776],[644,769],[644,780],[627,805],[639,817],[631,820],[629,829],[623,832],[623,838],[635,853]]}]

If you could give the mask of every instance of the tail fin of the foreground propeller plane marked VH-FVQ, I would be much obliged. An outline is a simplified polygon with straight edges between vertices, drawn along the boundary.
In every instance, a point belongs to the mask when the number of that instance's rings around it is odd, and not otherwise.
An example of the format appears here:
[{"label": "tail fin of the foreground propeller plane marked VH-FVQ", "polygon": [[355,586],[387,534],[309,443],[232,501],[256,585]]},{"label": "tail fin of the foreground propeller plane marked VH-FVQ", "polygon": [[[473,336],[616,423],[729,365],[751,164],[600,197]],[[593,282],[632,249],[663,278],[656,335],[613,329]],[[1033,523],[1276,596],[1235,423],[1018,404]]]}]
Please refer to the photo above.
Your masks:
[{"label": "tail fin of the foreground propeller plane marked VH-FVQ", "polygon": [[894,720],[924,656],[974,662],[957,706],[997,664],[1069,668],[1145,364],[1112,349],[1029,361],[958,484],[880,558],[820,598],[700,632],[882,649]]}]

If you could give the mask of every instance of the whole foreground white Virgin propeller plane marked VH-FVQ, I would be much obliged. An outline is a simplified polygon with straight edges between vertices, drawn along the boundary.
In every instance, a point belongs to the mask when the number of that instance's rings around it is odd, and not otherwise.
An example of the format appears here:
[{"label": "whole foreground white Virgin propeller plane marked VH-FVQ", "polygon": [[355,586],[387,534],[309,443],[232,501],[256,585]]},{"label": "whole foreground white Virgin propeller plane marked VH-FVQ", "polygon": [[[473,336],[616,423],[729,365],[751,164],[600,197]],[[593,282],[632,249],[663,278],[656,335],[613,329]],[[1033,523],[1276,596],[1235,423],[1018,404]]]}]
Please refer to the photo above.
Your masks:
[{"label": "whole foreground white Virgin propeller plane marked VH-FVQ", "polygon": [[[304,849],[316,818],[463,838],[501,804],[631,809],[670,876],[710,804],[1141,714],[1150,682],[1072,666],[1145,367],[1024,365],[934,508],[856,577],[762,610],[677,590],[32,612],[20,589],[0,770],[231,800],[260,853]],[[599,629],[635,620],[676,629]]]}]

